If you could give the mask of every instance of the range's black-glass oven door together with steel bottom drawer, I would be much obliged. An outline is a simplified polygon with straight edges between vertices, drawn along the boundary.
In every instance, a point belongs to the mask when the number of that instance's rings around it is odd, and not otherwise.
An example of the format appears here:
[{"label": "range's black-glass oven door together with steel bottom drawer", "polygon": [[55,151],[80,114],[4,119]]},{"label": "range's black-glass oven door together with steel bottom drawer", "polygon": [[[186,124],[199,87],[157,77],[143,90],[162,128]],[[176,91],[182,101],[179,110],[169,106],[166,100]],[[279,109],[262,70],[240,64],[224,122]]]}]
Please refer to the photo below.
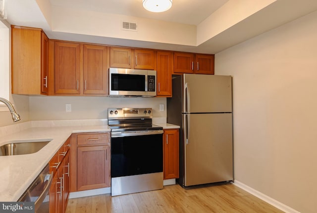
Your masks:
[{"label": "range's black-glass oven door together with steel bottom drawer", "polygon": [[163,130],[111,132],[111,196],[163,188]]}]

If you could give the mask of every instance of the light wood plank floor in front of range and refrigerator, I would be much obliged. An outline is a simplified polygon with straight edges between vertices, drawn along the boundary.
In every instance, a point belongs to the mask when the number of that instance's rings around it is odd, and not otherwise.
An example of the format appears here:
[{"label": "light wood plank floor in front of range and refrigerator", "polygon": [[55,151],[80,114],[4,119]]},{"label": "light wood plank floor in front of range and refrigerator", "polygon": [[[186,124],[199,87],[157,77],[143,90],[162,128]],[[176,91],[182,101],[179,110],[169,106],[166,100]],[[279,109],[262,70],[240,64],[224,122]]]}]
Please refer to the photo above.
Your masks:
[{"label": "light wood plank floor in front of range and refrigerator", "polygon": [[66,213],[283,213],[233,184],[70,199]]}]

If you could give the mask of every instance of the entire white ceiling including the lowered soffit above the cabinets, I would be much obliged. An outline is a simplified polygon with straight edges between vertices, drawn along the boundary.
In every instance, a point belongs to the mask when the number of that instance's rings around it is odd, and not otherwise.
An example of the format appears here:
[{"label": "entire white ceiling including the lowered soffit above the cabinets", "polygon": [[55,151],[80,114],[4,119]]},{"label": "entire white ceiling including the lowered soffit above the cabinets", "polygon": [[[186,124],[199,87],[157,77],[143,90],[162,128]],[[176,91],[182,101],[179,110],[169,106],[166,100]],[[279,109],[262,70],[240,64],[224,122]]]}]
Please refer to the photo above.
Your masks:
[{"label": "entire white ceiling including the lowered soffit above the cabinets", "polygon": [[[69,11],[69,15],[66,14],[68,17],[61,19],[59,9]],[[162,13],[145,10],[142,0],[7,0],[7,21],[12,25],[42,28],[50,39],[212,54],[315,10],[317,0],[173,0],[172,8]],[[72,14],[77,16],[71,17]],[[89,15],[78,17],[78,14]],[[166,41],[157,41],[147,36],[120,36],[119,31],[110,35],[108,32],[113,30],[113,26],[108,29],[109,23],[104,22],[98,26],[103,31],[93,32],[96,28],[89,28],[91,26],[87,26],[87,23],[93,25],[89,20],[96,21],[97,17],[104,17],[103,14],[106,17],[136,17],[140,22],[144,20],[147,23],[149,20],[164,21],[159,22],[161,29],[165,29],[163,25],[171,23],[180,41],[187,33],[182,34],[179,29],[190,26],[191,31],[195,30],[192,32],[195,36],[190,37],[193,41],[178,42],[168,41],[168,36]],[[68,21],[67,26],[65,23]],[[82,24],[85,21],[86,25]],[[73,25],[76,26],[72,29]],[[87,32],[85,29],[93,30]],[[151,28],[148,29],[150,33]]]}]

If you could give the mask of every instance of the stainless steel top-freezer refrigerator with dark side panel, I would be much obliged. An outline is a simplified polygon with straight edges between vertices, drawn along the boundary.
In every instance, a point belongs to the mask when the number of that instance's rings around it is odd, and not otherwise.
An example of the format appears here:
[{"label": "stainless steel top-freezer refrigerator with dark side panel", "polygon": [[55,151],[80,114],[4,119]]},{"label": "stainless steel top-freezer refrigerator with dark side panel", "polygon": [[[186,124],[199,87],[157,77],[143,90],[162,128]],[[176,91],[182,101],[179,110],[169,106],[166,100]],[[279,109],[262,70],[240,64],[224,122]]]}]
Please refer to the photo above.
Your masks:
[{"label": "stainless steel top-freezer refrigerator with dark side panel", "polygon": [[173,77],[167,123],[181,127],[181,186],[233,180],[231,82],[231,76]]}]

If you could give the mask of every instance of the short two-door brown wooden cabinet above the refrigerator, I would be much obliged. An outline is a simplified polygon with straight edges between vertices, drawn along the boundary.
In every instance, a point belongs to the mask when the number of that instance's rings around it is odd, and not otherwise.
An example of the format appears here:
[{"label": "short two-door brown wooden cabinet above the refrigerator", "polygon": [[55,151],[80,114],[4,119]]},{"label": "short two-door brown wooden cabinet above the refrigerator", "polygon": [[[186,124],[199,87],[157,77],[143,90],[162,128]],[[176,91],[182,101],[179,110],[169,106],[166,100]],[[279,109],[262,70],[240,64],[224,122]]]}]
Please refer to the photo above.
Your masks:
[{"label": "short two-door brown wooden cabinet above the refrigerator", "polygon": [[214,74],[214,55],[174,53],[173,74]]}]

